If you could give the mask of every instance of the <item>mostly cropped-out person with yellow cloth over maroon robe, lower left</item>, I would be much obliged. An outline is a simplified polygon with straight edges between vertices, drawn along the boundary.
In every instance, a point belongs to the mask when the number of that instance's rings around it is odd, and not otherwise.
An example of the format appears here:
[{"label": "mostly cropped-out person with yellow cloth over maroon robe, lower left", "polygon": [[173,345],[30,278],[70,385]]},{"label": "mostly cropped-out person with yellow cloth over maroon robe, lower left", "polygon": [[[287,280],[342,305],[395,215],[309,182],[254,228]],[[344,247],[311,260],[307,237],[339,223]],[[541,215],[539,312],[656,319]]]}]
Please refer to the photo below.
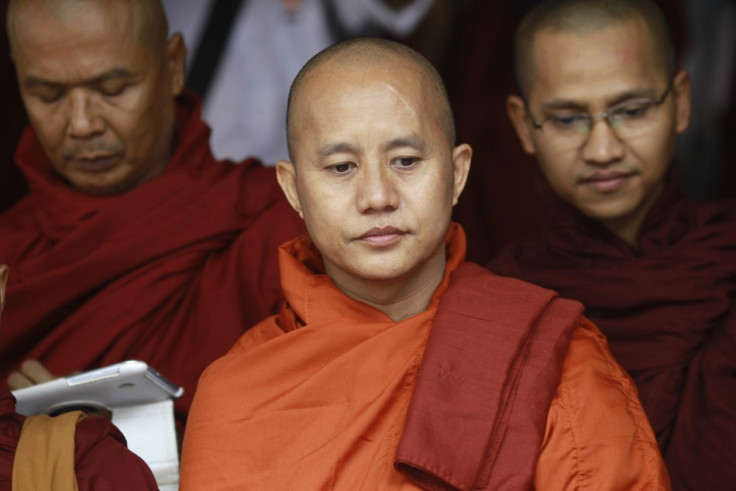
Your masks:
[{"label": "mostly cropped-out person with yellow cloth over maroon robe, lower left", "polygon": [[[0,265],[0,315],[8,268]],[[15,486],[15,487],[14,487]],[[76,488],[74,487],[76,486]],[[108,420],[79,412],[25,418],[0,389],[0,491],[11,489],[156,490],[145,462]]]}]

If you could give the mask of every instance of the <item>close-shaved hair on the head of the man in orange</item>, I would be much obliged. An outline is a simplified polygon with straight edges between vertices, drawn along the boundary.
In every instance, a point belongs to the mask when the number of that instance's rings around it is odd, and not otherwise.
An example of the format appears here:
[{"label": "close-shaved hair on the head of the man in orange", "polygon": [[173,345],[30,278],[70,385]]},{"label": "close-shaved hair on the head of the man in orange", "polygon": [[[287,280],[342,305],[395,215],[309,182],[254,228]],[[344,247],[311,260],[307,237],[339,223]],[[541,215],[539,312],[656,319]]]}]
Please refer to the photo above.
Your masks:
[{"label": "close-shaved hair on the head of the man in orange", "polygon": [[334,44],[313,56],[299,71],[289,91],[289,102],[286,111],[286,132],[289,145],[289,156],[294,161],[294,142],[297,137],[296,120],[301,98],[306,97],[306,88],[310,81],[325,73],[334,76],[335,83],[340,82],[340,73],[347,69],[362,69],[370,76],[371,67],[403,66],[416,71],[422,79],[422,85],[429,89],[431,101],[427,103],[433,108],[438,123],[447,136],[448,145],[455,145],[455,121],[447,98],[447,90],[437,69],[413,49],[386,39],[361,37]]}]

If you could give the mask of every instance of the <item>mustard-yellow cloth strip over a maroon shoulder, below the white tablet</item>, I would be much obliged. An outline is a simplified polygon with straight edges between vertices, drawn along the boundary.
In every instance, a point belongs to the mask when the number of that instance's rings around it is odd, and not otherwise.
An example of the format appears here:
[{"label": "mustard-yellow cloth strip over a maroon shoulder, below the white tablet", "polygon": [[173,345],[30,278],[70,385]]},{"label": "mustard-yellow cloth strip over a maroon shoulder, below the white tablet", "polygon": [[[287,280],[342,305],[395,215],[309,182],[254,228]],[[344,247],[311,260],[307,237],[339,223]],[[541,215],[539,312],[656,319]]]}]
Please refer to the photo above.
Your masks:
[{"label": "mustard-yellow cloth strip over a maroon shoulder, below the white tablet", "polygon": [[82,418],[82,411],[26,418],[13,461],[13,491],[78,490],[74,437]]}]

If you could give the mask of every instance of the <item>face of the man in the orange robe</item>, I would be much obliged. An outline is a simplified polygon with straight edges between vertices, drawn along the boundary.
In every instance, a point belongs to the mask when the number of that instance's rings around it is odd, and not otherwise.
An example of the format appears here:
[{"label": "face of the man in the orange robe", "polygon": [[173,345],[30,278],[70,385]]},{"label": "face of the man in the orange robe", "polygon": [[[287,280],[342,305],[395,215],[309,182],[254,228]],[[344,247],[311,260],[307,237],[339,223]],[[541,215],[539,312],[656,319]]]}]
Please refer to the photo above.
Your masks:
[{"label": "face of the man in the orange robe", "polygon": [[448,142],[427,83],[405,60],[328,62],[294,101],[279,178],[344,289],[444,268],[470,148]]}]

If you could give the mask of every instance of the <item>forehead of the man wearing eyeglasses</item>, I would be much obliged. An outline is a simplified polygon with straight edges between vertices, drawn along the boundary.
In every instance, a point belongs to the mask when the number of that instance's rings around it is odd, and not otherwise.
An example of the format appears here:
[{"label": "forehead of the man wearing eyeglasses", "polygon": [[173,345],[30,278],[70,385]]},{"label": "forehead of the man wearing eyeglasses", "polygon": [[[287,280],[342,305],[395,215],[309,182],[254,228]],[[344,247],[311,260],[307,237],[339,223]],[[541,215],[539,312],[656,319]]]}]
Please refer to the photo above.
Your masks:
[{"label": "forehead of the man wearing eyeglasses", "polygon": [[530,100],[605,98],[653,89],[666,79],[639,21],[588,33],[543,30],[534,42],[535,78]]}]

